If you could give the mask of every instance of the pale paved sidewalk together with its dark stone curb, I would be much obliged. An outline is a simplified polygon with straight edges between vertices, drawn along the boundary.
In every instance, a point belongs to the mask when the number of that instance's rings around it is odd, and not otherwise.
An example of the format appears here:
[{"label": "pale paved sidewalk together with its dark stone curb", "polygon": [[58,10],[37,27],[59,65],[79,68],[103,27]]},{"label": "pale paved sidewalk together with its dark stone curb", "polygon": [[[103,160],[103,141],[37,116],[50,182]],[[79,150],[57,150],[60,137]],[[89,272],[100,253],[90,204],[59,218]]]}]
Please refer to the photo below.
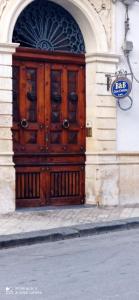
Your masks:
[{"label": "pale paved sidewalk together with its dark stone curb", "polygon": [[[139,205],[20,209],[0,215],[0,247],[139,226]],[[33,238],[33,239],[32,239]],[[37,239],[38,238],[38,239]],[[13,241],[18,242],[13,242]],[[20,240],[20,242],[19,242]],[[24,242],[21,242],[24,240]],[[6,243],[6,241],[10,241]]]}]

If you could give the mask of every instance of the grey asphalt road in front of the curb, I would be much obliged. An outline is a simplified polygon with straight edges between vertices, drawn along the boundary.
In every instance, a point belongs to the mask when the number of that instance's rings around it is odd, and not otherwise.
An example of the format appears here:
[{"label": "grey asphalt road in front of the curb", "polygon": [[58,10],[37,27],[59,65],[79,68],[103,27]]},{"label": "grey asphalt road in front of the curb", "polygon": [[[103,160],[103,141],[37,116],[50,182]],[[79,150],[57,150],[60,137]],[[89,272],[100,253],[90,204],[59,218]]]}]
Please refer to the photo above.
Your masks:
[{"label": "grey asphalt road in front of the curb", "polygon": [[139,230],[0,250],[0,300],[139,300]]}]

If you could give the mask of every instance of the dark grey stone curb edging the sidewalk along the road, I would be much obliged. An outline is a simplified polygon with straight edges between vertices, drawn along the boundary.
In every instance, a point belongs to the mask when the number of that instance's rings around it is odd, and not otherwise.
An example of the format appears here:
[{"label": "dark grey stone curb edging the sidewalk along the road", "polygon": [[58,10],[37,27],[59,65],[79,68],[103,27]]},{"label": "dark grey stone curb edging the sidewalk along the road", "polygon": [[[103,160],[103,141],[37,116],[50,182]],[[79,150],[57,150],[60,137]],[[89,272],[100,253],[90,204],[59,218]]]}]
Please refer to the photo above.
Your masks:
[{"label": "dark grey stone curb edging the sidewalk along the road", "polygon": [[130,218],[111,222],[89,223],[49,230],[1,235],[0,249],[32,245],[43,242],[55,242],[137,227],[139,227],[139,218]]}]

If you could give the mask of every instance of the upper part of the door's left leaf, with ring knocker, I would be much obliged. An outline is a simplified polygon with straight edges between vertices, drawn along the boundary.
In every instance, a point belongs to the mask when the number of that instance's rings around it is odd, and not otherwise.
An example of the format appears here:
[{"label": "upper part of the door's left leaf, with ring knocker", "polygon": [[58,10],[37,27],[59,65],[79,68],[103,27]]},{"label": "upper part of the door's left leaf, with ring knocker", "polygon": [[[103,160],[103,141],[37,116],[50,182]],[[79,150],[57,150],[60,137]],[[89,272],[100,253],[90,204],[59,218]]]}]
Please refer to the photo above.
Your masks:
[{"label": "upper part of the door's left leaf, with ring knocker", "polygon": [[[44,66],[37,63],[16,62],[14,66],[15,106],[13,118],[14,150],[41,151],[44,147]],[[18,76],[18,77],[17,77]],[[18,79],[17,79],[18,78]]]}]

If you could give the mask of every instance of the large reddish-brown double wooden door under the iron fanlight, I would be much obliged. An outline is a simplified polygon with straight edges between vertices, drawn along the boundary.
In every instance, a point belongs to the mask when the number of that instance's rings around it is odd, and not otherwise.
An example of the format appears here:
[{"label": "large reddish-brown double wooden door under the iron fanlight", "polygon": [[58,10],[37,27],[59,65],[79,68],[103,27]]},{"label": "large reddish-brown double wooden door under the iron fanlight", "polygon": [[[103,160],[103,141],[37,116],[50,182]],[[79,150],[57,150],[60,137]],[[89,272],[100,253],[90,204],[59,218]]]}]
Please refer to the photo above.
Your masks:
[{"label": "large reddish-brown double wooden door under the iron fanlight", "polygon": [[17,206],[84,203],[83,55],[18,50],[12,131]]}]

